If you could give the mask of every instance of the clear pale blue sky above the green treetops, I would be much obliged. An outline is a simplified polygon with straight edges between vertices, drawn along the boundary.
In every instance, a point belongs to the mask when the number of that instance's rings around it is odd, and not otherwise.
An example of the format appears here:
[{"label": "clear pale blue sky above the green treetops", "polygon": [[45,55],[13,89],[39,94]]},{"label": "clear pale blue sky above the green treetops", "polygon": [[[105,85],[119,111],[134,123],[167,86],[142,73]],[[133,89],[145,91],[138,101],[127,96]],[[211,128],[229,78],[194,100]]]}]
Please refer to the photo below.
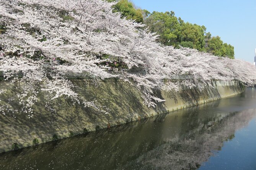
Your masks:
[{"label": "clear pale blue sky above the green treetops", "polygon": [[204,25],[235,47],[235,58],[254,61],[256,0],[131,0],[150,12],[174,11],[185,22]]}]

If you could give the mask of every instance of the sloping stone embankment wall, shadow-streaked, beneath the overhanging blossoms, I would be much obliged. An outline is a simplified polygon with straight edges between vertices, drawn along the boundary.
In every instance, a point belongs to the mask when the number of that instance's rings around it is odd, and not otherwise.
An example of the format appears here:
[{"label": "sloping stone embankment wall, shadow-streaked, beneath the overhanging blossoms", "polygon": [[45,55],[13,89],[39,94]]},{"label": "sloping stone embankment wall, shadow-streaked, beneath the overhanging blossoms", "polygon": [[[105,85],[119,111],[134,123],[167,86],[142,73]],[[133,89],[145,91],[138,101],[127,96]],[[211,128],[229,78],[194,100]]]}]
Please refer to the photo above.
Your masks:
[{"label": "sloping stone embankment wall, shadow-streaked, beneath the overhanging blossoms", "polygon": [[[53,134],[64,138],[70,131],[75,134],[83,133],[84,128],[94,131],[96,127],[108,127],[108,123],[114,126],[118,123],[138,120],[139,117],[143,119],[152,114],[183,109],[183,107],[236,95],[244,90],[244,86],[237,81],[212,81],[211,85],[202,90],[183,88],[178,92],[156,91],[156,94],[166,101],[158,104],[156,108],[148,108],[143,105],[140,92],[127,82],[75,80],[74,83],[80,87],[77,88],[80,95],[88,100],[96,99],[99,105],[107,106],[109,114],[73,105],[71,101],[64,98],[57,99],[57,105],[52,106],[56,113],[51,113],[44,108],[47,98],[41,93],[38,95],[38,102],[33,106],[34,117],[29,119],[28,114],[24,113],[0,115],[0,152],[10,150],[14,142],[21,147],[30,146],[34,138],[38,138],[40,143],[47,142],[51,141]],[[0,90],[6,91],[5,94],[0,95],[0,104],[6,104],[10,97],[15,98],[16,92],[19,91],[16,87],[20,86],[22,88],[23,85],[0,82]],[[11,105],[19,110],[15,102]]]}]

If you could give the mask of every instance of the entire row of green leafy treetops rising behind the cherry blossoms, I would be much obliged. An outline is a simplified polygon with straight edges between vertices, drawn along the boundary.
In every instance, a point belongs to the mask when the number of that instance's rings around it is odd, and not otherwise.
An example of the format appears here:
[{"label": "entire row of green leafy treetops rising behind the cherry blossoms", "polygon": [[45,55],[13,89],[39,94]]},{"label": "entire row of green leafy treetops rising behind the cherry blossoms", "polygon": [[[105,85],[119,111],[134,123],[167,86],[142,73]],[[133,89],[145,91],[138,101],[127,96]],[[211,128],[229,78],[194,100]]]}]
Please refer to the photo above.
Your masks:
[{"label": "entire row of green leafy treetops rising behind the cherry blossoms", "polygon": [[[111,2],[115,0],[109,0]],[[119,11],[122,17],[133,19],[136,22],[146,24],[151,32],[157,32],[157,42],[164,45],[172,45],[176,48],[194,48],[206,51],[215,56],[234,58],[234,47],[222,42],[220,37],[211,37],[206,33],[205,26],[184,22],[171,12],[148,12],[147,10],[135,9],[128,0],[120,0],[113,6],[113,11]],[[210,36],[209,36],[210,35]]]}]

